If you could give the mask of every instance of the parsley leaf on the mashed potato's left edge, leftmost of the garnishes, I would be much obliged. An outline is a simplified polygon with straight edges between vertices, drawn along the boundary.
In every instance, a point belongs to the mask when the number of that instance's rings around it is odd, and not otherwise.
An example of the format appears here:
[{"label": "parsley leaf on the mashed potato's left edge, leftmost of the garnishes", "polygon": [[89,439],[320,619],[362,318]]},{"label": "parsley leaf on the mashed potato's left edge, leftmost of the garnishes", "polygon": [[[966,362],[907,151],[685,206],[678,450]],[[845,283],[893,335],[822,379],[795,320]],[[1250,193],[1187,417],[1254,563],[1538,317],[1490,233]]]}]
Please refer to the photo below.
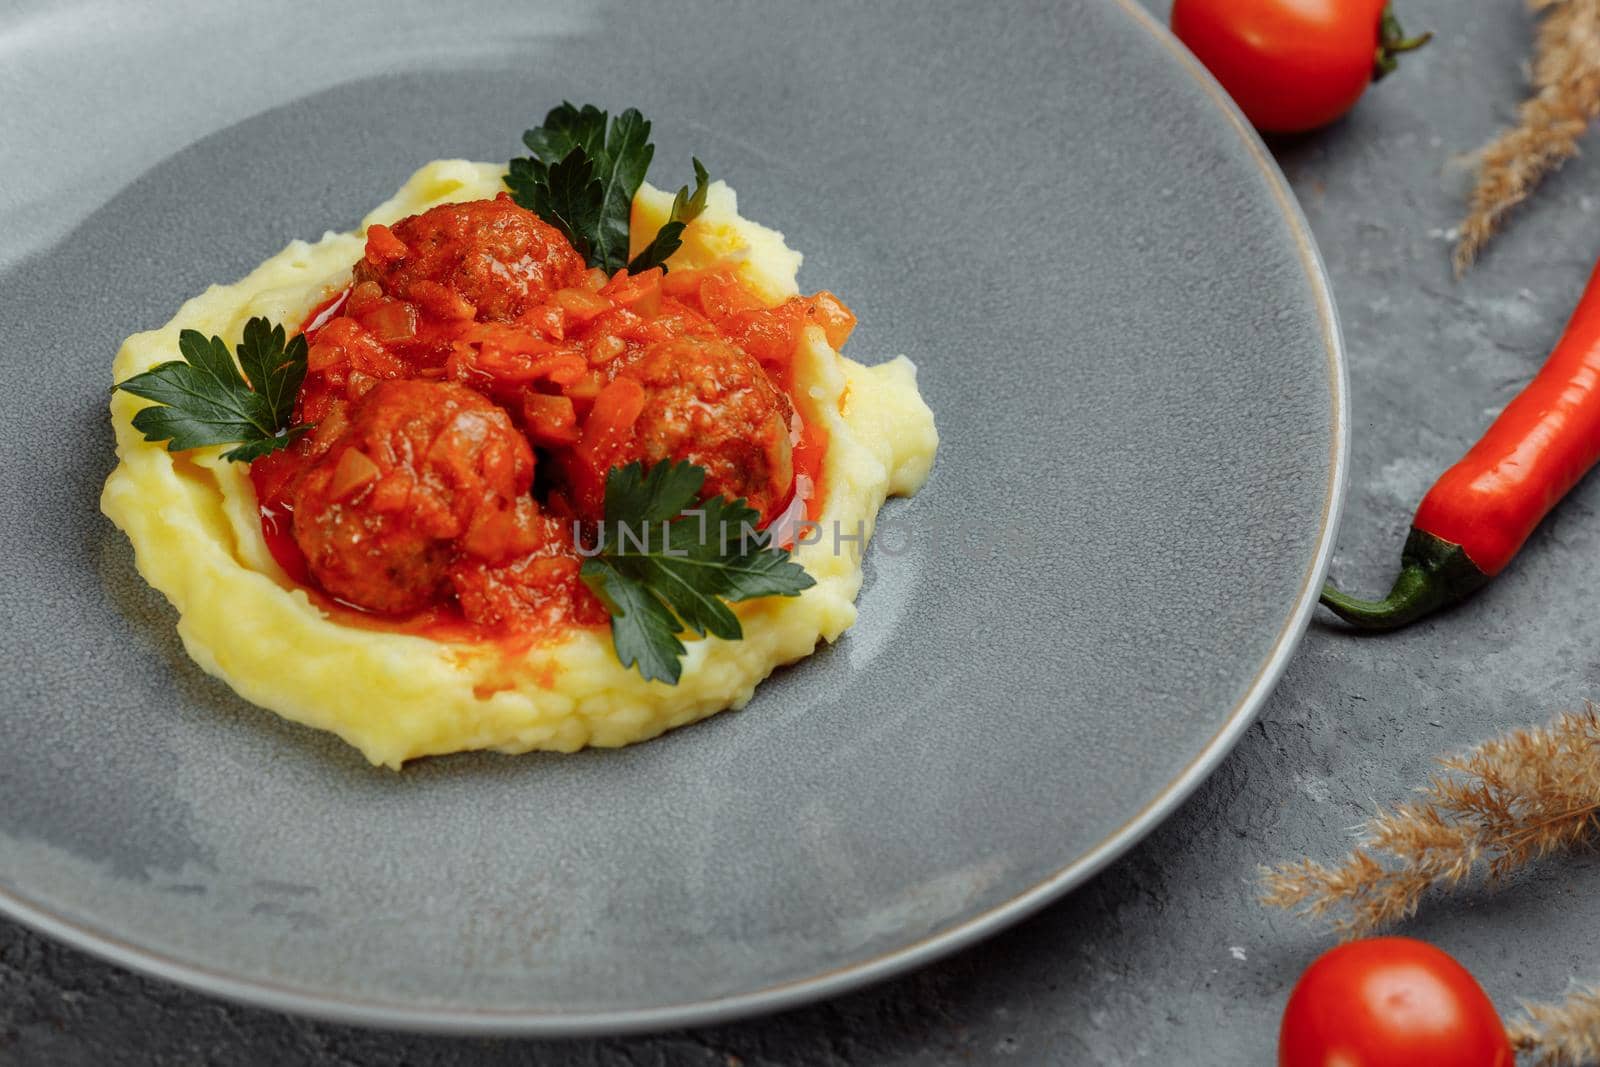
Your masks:
[{"label": "parsley leaf on the mashed potato's left edge, leftmost of the garnishes", "polygon": [[[266,318],[245,323],[238,365],[221,338],[195,330],[178,334],[182,360],[134,374],[117,389],[154,400],[133,416],[147,442],[168,451],[205,445],[237,445],[222,459],[250,462],[285,448],[309,426],[290,426],[294,397],[306,378],[306,338],[288,338]],[[243,374],[240,373],[243,368]]]}]

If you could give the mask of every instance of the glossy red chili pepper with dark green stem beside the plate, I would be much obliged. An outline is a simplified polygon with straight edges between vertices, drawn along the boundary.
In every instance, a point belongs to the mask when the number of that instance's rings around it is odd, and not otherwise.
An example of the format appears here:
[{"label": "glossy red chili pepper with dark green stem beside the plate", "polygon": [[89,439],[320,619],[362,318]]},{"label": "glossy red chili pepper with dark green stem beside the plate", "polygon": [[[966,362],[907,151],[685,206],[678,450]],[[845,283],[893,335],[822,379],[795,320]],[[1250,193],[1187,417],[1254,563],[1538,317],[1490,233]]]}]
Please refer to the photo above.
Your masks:
[{"label": "glossy red chili pepper with dark green stem beside the plate", "polygon": [[1600,267],[1534,379],[1422,498],[1389,595],[1357,600],[1330,582],[1322,603],[1360,629],[1394,630],[1464,600],[1506,569],[1597,459]]}]

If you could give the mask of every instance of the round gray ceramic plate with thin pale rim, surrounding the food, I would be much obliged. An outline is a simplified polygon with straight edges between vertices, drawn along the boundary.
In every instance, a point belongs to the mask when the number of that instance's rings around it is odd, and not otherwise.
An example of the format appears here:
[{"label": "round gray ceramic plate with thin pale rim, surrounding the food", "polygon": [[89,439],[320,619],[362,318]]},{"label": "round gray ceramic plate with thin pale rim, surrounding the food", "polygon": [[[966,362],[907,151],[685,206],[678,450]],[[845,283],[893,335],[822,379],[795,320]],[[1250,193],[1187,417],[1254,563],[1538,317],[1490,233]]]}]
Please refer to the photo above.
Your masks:
[{"label": "round gray ceramic plate with thin pale rim, surrounding the food", "polygon": [[[1112,0],[0,16],[0,907],[389,1025],[771,1009],[1083,881],[1218,763],[1314,601],[1339,342],[1259,142]],[[182,14],[178,14],[182,11]],[[403,774],[184,657],[96,507],[109,363],[560,101],[642,106],[907,352],[944,432],[861,622],[741,713]],[[890,545],[883,545],[888,549]]]}]

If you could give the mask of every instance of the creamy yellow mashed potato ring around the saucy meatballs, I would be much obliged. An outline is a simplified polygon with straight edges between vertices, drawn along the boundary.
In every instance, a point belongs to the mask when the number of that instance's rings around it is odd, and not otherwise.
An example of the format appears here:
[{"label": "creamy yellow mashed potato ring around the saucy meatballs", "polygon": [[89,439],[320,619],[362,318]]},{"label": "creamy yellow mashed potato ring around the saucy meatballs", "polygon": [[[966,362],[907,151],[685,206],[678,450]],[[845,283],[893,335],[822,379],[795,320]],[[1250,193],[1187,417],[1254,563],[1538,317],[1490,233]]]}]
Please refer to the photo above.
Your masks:
[{"label": "creamy yellow mashed potato ring around the saucy meatballs", "polygon": [[[499,166],[445,160],[419,170],[363,222],[394,222],[434,205],[493,197]],[[654,234],[670,195],[645,186],[634,234]],[[168,325],[134,334],[117,354],[115,379],[178,358],[179,328],[237,341],[266,315],[299,323],[349,282],[362,234],[294,242],[234,285],[213,286]],[[670,266],[736,258],[747,285],[771,301],[797,293],[800,254],[782,235],[739,218],[734,194],[717,182],[706,213],[688,227]],[[797,403],[830,435],[821,525],[870,533],[888,494],[915,493],[928,477],[938,435],[904,357],[862,366],[827,347],[811,326],[795,357]],[[373,763],[469,749],[573,752],[624,745],[742,707],[773,669],[834,641],[856,621],[861,542],[832,536],[797,558],[816,585],[800,597],[734,605],[744,640],[688,641],[678,685],[624,670],[605,629],[573,630],[509,656],[494,643],[446,643],[330,617],[274,561],[261,534],[246,464],[224,448],[170,453],[131,426],[146,402],[117,392],[110,413],[118,466],[101,509],[133,542],[139,573],[178,608],[178,633],[202,669],[248,701],[307,726],[330,729]]]}]

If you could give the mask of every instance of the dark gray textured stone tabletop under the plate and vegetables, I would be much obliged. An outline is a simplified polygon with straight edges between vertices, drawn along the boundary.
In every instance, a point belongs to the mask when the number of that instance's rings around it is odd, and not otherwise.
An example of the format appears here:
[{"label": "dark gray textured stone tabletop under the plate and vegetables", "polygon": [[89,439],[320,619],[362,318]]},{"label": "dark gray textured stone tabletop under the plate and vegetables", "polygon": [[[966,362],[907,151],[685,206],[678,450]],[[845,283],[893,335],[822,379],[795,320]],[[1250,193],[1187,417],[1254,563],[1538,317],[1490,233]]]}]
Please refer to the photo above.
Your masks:
[{"label": "dark gray textured stone tabletop under the plate and vegetables", "polygon": [[[1166,3],[1147,0],[1165,16]],[[1448,267],[1459,157],[1510,118],[1517,0],[1403,0],[1438,40],[1339,126],[1275,144],[1342,309],[1354,458],[1334,573],[1378,592],[1437,472],[1536,370],[1600,251],[1597,163],[1566,168],[1464,282]],[[771,1019],[648,1038],[464,1041],[323,1025],[131,976],[0,923],[0,1064],[1266,1064],[1317,931],[1253,904],[1261,862],[1339,851],[1429,758],[1595,696],[1600,480],[1466,609],[1381,640],[1318,621],[1261,721],[1122,862],[942,963]],[[1432,902],[1410,933],[1496,1001],[1600,979],[1600,870],[1557,859]]]}]

